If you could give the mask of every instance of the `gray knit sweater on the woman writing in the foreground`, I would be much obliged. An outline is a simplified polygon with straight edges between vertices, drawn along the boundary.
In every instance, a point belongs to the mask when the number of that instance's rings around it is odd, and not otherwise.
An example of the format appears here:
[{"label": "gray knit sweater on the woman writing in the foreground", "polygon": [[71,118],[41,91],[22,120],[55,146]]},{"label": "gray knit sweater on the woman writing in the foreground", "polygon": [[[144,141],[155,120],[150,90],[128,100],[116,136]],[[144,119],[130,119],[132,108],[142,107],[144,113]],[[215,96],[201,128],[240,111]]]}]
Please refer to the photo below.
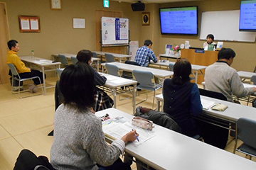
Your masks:
[{"label": "gray knit sweater on the woman writing in the foreground", "polygon": [[55,112],[54,141],[50,163],[55,169],[98,169],[110,166],[124,152],[124,142],[107,145],[102,122],[87,111],[80,113],[61,104]]}]

